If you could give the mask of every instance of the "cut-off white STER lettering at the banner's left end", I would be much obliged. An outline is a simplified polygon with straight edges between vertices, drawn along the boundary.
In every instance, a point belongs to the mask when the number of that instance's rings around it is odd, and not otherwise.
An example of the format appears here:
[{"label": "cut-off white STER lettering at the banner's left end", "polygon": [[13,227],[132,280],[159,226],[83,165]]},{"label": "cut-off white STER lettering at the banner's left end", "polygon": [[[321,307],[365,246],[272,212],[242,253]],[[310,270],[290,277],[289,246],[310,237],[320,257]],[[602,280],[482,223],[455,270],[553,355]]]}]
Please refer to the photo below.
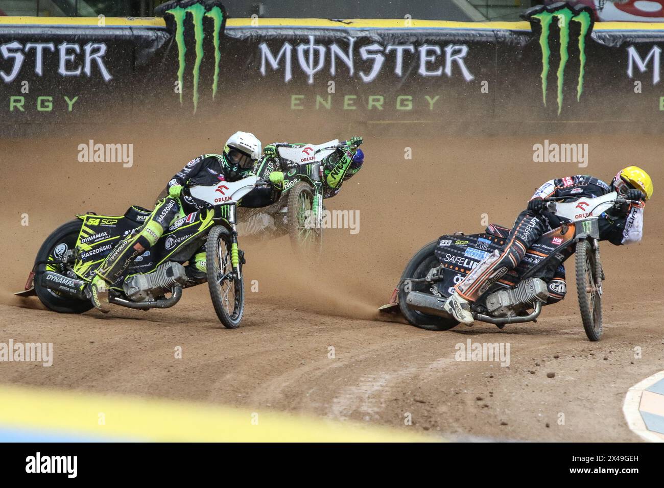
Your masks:
[{"label": "cut-off white STER lettering at the banner's left end", "polygon": [[[92,67],[96,64],[97,70],[105,82],[113,78],[104,64],[104,55],[106,54],[106,44],[104,42],[88,42],[82,48],[77,42],[61,42],[56,48],[54,42],[28,42],[23,46],[19,41],[0,44],[0,56],[12,63],[7,66],[11,68],[9,71],[4,69],[5,66],[0,66],[0,78],[5,83],[13,82],[19,76],[21,68],[23,68],[25,54],[30,54],[33,51],[35,52],[34,69],[37,76],[44,74],[44,56],[48,56],[48,51],[50,51],[52,53],[57,52],[58,74],[60,76],[81,76],[81,73],[83,73],[91,78]],[[82,63],[78,59],[81,53],[83,56]]]}]

